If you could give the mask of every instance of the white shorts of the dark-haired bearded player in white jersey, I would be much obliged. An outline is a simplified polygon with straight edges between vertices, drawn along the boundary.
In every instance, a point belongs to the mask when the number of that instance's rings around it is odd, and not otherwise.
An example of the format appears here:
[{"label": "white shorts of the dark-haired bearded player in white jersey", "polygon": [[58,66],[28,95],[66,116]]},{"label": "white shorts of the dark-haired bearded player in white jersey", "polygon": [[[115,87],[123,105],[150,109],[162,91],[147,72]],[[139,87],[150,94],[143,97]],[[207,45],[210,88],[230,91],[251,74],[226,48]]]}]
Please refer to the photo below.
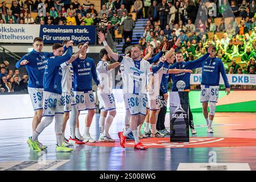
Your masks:
[{"label": "white shorts of the dark-haired bearded player in white jersey", "polygon": [[100,102],[100,109],[108,111],[115,110],[115,98],[113,93],[100,93],[97,91],[98,101]]}]

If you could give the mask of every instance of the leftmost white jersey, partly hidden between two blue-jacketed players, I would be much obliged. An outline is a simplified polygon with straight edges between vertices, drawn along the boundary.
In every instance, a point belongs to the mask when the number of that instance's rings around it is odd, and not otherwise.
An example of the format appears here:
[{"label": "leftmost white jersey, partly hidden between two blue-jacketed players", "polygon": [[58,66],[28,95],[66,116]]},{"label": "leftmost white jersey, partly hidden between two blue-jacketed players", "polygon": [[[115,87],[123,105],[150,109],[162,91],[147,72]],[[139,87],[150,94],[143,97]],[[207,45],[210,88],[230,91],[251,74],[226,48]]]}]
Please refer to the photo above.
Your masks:
[{"label": "leftmost white jersey, partly hidden between two blue-jacketed players", "polygon": [[60,67],[62,68],[62,92],[71,93],[72,82],[74,80],[73,66],[72,64],[63,63],[60,65]]}]

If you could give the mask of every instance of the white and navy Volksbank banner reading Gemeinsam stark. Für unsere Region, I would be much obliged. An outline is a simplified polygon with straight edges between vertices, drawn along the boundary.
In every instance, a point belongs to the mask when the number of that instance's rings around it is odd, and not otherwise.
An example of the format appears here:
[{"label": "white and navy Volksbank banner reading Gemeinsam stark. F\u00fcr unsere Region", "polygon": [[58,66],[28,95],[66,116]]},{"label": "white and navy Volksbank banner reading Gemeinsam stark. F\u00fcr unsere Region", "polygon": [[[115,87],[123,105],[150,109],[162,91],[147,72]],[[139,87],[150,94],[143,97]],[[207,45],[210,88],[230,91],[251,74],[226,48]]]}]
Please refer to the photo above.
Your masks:
[{"label": "white and navy Volksbank banner reading Gemeinsam stark. F\u00fcr unsere Region", "polygon": [[62,43],[73,40],[75,43],[96,42],[95,26],[57,26],[39,24],[0,24],[1,43],[33,43],[34,38],[41,37],[44,43]]}]

